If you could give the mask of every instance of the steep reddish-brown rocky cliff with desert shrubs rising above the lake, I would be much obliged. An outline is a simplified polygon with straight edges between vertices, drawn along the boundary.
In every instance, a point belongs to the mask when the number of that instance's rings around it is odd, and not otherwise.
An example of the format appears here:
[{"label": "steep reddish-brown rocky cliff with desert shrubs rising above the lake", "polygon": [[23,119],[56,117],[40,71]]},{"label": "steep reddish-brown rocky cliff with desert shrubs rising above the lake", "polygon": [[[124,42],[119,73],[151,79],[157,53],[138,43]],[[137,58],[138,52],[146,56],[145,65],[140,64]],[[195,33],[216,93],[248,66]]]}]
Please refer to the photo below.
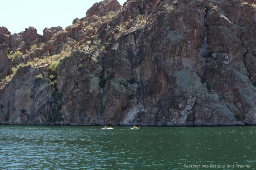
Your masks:
[{"label": "steep reddish-brown rocky cliff with desert shrubs rising above the lake", "polygon": [[256,124],[255,8],[105,0],[65,30],[0,27],[0,123]]}]

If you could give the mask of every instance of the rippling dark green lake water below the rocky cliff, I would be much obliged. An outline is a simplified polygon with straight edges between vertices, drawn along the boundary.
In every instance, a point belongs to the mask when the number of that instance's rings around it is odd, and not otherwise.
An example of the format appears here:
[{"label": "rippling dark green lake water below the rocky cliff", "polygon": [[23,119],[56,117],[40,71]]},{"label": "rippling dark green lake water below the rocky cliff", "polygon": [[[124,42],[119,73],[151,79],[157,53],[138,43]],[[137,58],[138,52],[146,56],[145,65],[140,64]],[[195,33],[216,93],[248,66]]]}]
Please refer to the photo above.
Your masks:
[{"label": "rippling dark green lake water below the rocky cliff", "polygon": [[256,169],[256,126],[100,128],[0,125],[0,169]]}]

